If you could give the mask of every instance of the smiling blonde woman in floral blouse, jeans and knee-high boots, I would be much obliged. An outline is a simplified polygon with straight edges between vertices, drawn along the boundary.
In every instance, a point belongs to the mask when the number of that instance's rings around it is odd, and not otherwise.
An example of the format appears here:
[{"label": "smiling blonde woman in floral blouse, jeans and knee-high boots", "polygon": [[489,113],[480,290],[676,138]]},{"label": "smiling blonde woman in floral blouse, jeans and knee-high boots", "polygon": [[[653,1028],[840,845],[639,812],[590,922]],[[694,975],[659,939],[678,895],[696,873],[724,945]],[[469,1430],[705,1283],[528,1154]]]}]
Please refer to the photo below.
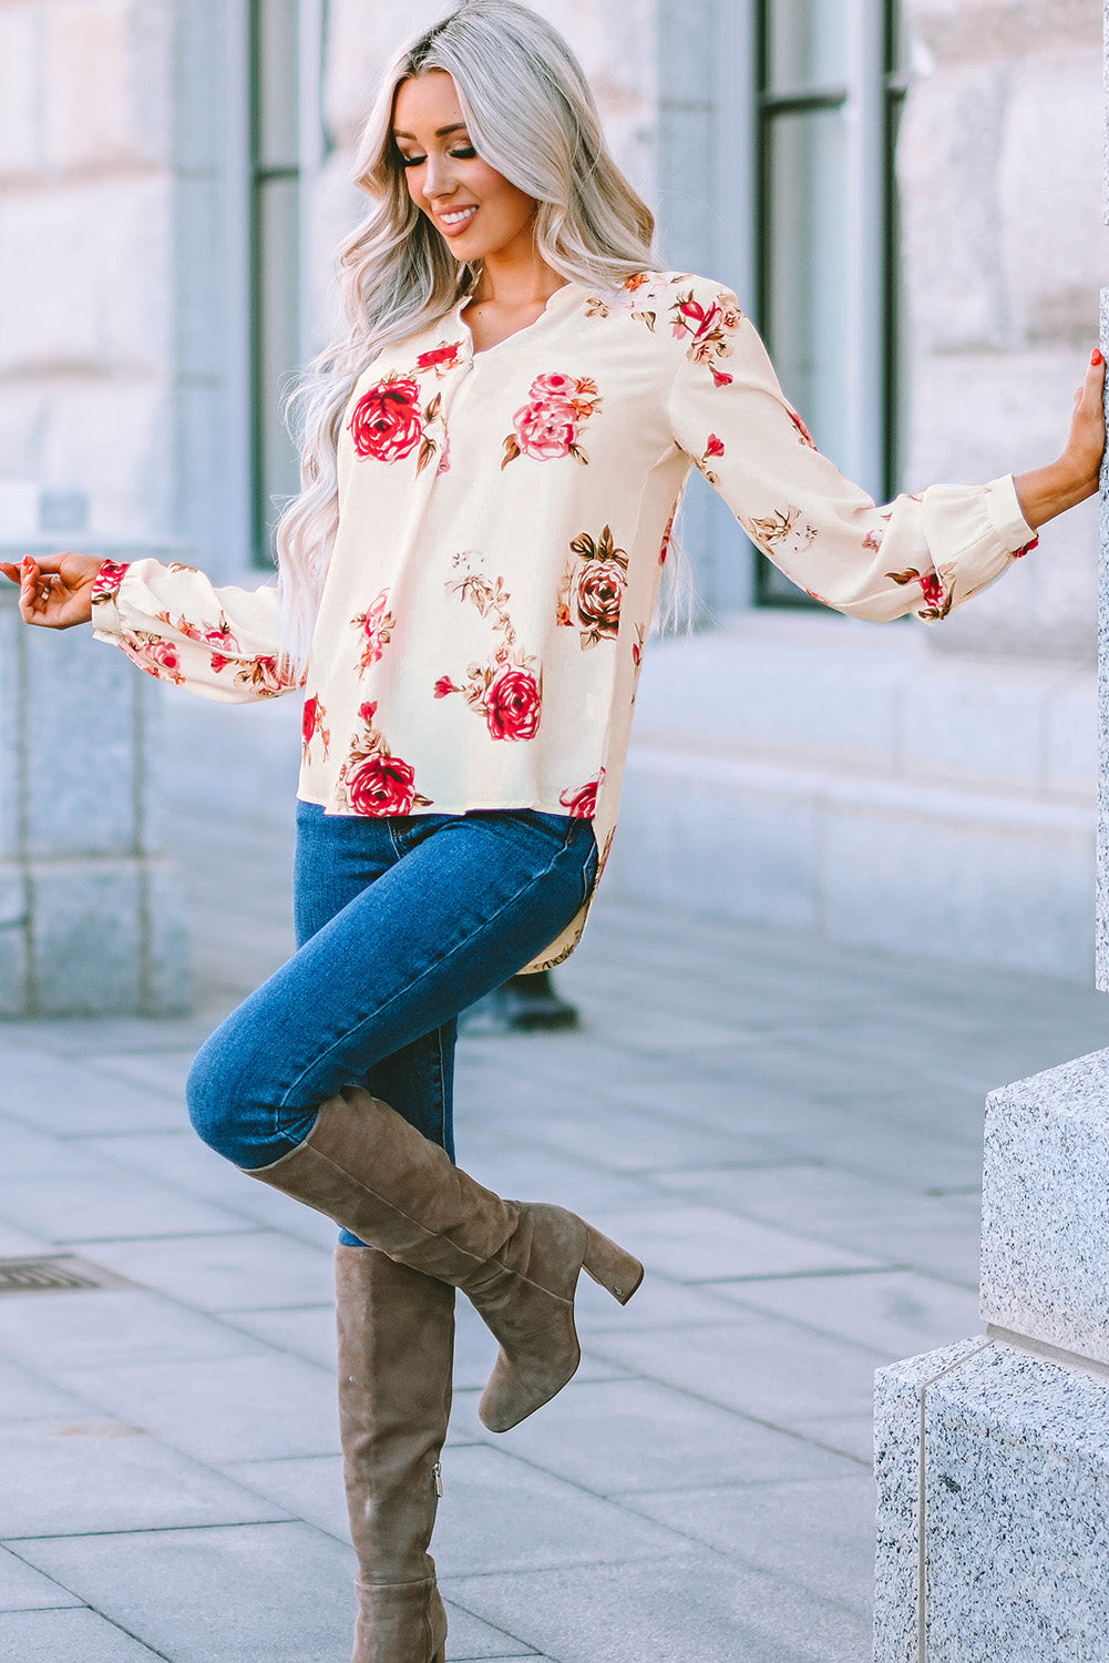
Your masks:
[{"label": "smiling blonde woman in floral blouse, jeans and knee-high boots", "polygon": [[[75,554],[5,567],[28,624],[93,620],[214,698],[304,687],[298,951],[190,1074],[193,1124],[343,1226],[339,1397],[356,1663],[442,1663],[427,1555],[454,1290],[500,1342],[505,1430],[574,1374],[574,1289],[640,1264],[452,1164],[457,1011],[577,941],[692,466],[841,612],[934,620],[1091,496],[1094,354],[1066,449],[876,507],[825,461],[733,294],[665,271],[562,38],[466,0],[397,58],[343,248],[347,334],[309,371],[279,587]],[[673,569],[673,560],[670,562]]]}]

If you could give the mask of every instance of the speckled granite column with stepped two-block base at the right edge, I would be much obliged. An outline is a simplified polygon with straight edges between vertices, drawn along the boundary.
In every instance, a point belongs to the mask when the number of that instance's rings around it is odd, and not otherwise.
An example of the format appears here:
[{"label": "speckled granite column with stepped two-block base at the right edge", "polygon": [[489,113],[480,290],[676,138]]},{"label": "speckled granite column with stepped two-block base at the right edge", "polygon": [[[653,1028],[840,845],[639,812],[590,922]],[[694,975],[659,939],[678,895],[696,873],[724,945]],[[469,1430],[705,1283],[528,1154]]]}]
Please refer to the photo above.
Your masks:
[{"label": "speckled granite column with stepped two-block base at the right edge", "polygon": [[[1101,296],[1101,343],[1109,353],[1109,291]],[[1102,471],[1102,991],[1109,991],[1107,486]],[[984,1332],[876,1375],[876,1663],[1109,1656],[1107,1267],[1109,1049],[988,1098]]]}]

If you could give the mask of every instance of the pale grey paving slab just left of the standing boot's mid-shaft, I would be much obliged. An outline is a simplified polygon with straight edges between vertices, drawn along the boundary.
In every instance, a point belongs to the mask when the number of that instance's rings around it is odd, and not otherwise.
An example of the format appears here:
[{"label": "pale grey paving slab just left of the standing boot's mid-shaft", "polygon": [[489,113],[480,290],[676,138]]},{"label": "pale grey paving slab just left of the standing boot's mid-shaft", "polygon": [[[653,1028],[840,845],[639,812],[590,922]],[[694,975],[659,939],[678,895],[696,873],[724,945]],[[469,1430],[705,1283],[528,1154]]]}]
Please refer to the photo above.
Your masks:
[{"label": "pale grey paving slab just left of the standing boot's mid-shaft", "polygon": [[249,1357],[76,1369],[65,1379],[110,1414],[205,1463],[328,1455],[339,1447],[334,1379],[261,1347]]}]

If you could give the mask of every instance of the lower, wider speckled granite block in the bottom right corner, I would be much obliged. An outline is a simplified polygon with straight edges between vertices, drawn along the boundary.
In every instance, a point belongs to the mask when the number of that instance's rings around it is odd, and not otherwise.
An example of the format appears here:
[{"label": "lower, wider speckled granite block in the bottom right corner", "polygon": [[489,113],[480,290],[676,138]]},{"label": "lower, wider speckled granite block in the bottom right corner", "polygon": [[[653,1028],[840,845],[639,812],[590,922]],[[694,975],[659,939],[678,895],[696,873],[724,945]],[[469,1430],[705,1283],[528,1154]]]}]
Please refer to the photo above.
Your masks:
[{"label": "lower, wider speckled granite block in the bottom right corner", "polygon": [[1109,1658],[1109,1379],[981,1340],[885,1369],[876,1470],[876,1663]]}]

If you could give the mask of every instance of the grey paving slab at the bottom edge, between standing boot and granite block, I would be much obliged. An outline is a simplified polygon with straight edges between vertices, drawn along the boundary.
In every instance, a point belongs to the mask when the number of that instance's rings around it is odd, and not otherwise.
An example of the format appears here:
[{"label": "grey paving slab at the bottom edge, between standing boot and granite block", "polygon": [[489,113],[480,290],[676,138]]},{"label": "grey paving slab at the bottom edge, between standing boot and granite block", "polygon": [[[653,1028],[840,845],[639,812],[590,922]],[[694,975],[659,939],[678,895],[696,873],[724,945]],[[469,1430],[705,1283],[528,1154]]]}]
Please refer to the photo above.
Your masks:
[{"label": "grey paving slab at the bottom edge, between standing boot and granite block", "polygon": [[650,1565],[451,1578],[451,1598],[559,1663],[868,1663],[856,1611],[702,1550]]}]

